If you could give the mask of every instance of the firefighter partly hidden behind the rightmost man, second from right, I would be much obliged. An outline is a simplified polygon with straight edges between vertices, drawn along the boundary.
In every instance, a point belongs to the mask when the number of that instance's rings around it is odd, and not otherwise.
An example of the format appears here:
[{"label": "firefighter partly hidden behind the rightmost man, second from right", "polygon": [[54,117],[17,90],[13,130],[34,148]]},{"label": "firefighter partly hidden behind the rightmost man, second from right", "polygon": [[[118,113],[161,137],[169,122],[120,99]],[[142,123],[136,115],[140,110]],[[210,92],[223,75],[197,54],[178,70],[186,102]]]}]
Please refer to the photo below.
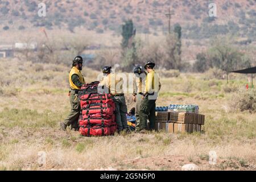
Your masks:
[{"label": "firefighter partly hidden behind the rightmost man, second from right", "polygon": [[147,73],[143,71],[141,65],[134,68],[134,86],[133,86],[133,101],[136,102],[135,117],[136,130],[139,130],[139,107],[141,107],[142,96],[145,89],[145,79]]}]

